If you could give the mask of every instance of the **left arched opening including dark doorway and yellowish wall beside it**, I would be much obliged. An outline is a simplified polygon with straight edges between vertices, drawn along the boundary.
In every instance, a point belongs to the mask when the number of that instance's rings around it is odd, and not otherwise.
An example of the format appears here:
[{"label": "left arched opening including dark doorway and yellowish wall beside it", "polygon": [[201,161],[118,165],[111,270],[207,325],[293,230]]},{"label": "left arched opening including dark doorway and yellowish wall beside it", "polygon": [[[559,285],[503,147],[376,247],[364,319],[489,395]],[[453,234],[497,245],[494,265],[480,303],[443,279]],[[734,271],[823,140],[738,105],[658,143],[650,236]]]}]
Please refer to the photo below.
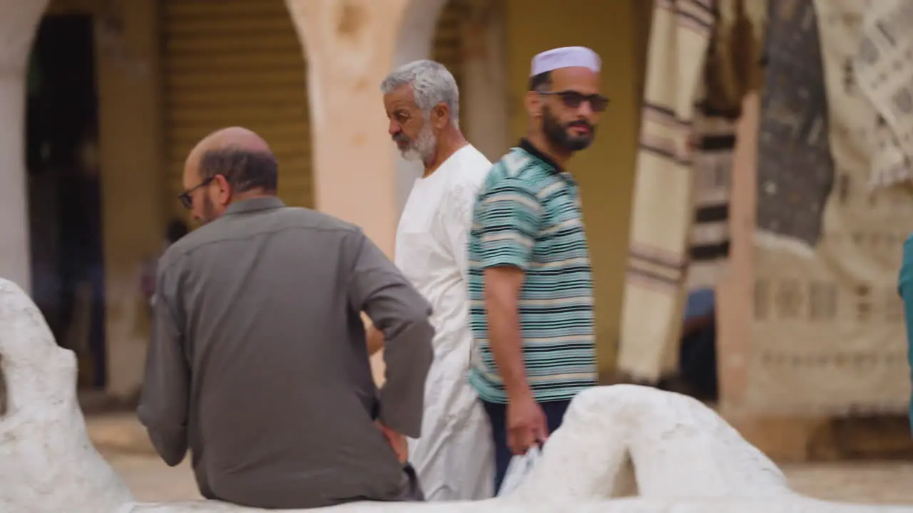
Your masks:
[{"label": "left arched opening including dark doorway and yellowish wall beside it", "polygon": [[[79,384],[93,389],[85,397],[93,404],[105,393],[127,399],[138,388],[148,340],[138,274],[161,248],[158,51],[145,44],[158,37],[158,0],[45,4],[16,2],[8,16],[16,29],[0,24],[12,48],[6,58],[23,52],[20,75],[5,76],[26,86],[26,133],[13,123],[6,138],[25,151],[3,152],[25,157],[26,181],[21,190],[2,189],[28,197],[30,232],[21,242],[5,240],[26,259],[31,253],[32,279],[23,282],[31,282],[58,343],[76,351]],[[21,27],[34,23],[25,17],[30,9],[27,16],[40,23],[34,38],[29,31],[19,40]],[[0,167],[15,172],[18,165]],[[10,206],[6,219],[16,215]]]}]

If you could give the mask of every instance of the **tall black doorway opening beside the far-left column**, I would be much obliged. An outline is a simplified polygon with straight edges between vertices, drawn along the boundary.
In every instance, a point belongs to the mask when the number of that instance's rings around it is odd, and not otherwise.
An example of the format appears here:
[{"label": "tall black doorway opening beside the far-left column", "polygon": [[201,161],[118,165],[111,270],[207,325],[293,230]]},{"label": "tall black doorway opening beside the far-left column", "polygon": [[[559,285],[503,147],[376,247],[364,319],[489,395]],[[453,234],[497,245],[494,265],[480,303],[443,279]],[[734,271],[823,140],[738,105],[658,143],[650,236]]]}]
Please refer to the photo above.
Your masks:
[{"label": "tall black doorway opening beside the far-left column", "polygon": [[54,4],[26,73],[26,188],[32,297],[79,386],[107,381],[99,89],[92,13]]}]

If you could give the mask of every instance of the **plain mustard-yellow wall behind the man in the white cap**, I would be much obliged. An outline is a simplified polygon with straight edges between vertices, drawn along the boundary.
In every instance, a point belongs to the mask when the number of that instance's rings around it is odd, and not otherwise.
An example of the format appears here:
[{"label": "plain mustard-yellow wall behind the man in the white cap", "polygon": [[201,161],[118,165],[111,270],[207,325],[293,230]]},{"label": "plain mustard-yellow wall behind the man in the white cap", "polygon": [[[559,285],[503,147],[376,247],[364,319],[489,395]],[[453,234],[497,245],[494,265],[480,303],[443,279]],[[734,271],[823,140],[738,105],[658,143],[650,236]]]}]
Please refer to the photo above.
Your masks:
[{"label": "plain mustard-yellow wall behind the man in the white cap", "polygon": [[603,58],[603,94],[612,99],[596,142],[574,157],[570,171],[581,183],[583,215],[595,280],[600,370],[614,369],[622,305],[624,264],[635,172],[635,127],[639,93],[634,3],[594,0],[585,11],[551,2],[508,0],[507,40],[511,140],[526,131],[522,95],[530,58],[552,47],[582,45]]}]

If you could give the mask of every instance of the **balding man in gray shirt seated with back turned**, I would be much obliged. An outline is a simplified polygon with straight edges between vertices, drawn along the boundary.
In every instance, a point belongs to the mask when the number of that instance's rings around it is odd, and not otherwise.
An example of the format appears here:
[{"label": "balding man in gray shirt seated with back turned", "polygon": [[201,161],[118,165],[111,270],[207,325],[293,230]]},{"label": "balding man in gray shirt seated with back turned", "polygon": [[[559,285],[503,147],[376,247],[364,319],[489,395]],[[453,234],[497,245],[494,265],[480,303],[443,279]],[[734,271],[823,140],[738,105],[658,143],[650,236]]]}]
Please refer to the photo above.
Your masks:
[{"label": "balding man in gray shirt seated with back turned", "polygon": [[[362,232],[276,197],[265,141],[217,131],[190,153],[184,205],[203,222],[156,277],[139,417],[165,463],[189,448],[204,497],[257,508],[420,500],[431,308]],[[383,331],[374,385],[360,312]]]}]

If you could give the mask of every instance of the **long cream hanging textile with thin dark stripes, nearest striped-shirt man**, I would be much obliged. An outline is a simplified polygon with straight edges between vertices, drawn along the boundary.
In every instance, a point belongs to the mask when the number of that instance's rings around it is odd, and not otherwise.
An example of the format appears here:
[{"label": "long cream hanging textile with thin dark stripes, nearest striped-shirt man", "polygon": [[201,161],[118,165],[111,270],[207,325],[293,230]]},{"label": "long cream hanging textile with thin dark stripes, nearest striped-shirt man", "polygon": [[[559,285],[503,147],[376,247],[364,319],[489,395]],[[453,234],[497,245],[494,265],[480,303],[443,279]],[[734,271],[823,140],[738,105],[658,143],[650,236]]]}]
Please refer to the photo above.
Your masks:
[{"label": "long cream hanging textile with thin dark stripes, nearest striped-shirt man", "polygon": [[636,379],[655,382],[677,360],[695,197],[688,141],[714,22],[711,0],[654,7],[618,354]]}]

